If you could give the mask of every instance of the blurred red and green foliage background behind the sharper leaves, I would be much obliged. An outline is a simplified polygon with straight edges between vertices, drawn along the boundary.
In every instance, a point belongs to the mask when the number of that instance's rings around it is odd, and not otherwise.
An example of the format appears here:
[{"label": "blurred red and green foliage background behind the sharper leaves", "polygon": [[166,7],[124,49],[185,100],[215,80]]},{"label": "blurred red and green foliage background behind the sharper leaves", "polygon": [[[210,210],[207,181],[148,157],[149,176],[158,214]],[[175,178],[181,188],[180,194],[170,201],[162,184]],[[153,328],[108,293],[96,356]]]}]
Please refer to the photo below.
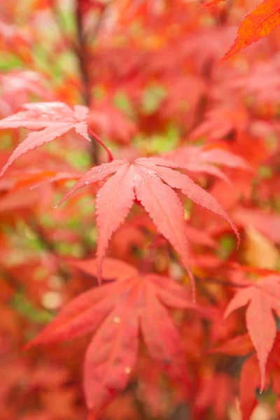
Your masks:
[{"label": "blurred red and green foliage background behind the sharper leaves", "polygon": [[[218,66],[241,19],[258,3],[227,0],[201,8],[196,0],[1,1],[0,116],[26,102],[85,104],[90,128],[115,158],[181,146],[221,147],[241,156],[250,171],[220,162],[232,183],[196,174],[227,209],[242,240],[236,251],[225,225],[187,203],[195,274],[221,276],[232,260],[280,269],[279,30]],[[1,166],[25,134],[1,131]],[[70,133],[24,155],[0,179],[1,420],[86,419],[81,366],[88,337],[29,351],[23,346],[66,302],[96,285],[93,275],[73,264],[94,256],[94,189],[54,207],[72,185],[59,174],[83,174],[105,161],[102,148]],[[109,255],[140,267],[154,233],[137,214],[114,235]],[[169,256],[159,247],[153,269],[182,276]],[[204,298],[224,309],[230,294],[215,283],[205,287]],[[231,337],[239,325],[236,318],[223,323],[218,309],[207,327],[211,344]],[[180,388],[142,357],[130,385],[100,419],[240,419],[236,379],[242,360],[207,356],[202,324],[189,316],[181,325],[196,378],[191,408]],[[254,419],[277,418],[273,395],[265,395]]]}]

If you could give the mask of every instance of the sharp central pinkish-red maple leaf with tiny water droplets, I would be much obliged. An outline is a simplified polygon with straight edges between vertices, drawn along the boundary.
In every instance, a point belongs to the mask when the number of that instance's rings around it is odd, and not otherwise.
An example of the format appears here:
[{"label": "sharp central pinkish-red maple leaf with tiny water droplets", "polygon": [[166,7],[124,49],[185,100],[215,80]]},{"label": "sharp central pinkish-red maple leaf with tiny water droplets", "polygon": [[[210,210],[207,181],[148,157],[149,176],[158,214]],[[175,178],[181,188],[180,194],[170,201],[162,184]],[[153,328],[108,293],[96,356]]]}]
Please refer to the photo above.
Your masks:
[{"label": "sharp central pinkish-red maple leaf with tiny water droplets", "polygon": [[95,204],[99,230],[97,244],[99,281],[101,280],[102,258],[106,253],[109,239],[123,223],[135,199],[141,202],[153,219],[156,228],[179,253],[191,280],[193,280],[193,274],[188,256],[188,232],[183,204],[174,188],[181,190],[196,204],[223,217],[230,223],[232,230],[239,238],[235,225],[230,221],[221,204],[187,175],[174,170],[177,167],[179,167],[178,164],[162,158],[138,158],[132,163],[125,159],[113,160],[108,164],[90,169],[59,203],[64,202],[79,188],[106,180],[97,193]]}]

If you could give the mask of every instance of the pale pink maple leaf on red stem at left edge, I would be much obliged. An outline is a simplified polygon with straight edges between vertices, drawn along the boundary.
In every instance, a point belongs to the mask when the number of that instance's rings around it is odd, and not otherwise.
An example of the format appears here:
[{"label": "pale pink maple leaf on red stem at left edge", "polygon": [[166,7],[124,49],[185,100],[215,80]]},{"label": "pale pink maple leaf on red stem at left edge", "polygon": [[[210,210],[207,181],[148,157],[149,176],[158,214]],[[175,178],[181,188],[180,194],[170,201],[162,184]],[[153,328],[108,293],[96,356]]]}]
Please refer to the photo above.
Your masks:
[{"label": "pale pink maple leaf on red stem at left edge", "polygon": [[25,127],[27,130],[41,131],[27,135],[27,138],[19,144],[2,168],[0,176],[20,156],[43,146],[45,143],[50,143],[50,141],[69,132],[72,128],[77,134],[90,141],[87,134],[87,123],[85,123],[85,117],[88,113],[86,106],[75,105],[74,109],[71,109],[62,102],[38,102],[25,104],[22,107],[26,111],[20,111],[3,118],[0,121],[0,128]]}]

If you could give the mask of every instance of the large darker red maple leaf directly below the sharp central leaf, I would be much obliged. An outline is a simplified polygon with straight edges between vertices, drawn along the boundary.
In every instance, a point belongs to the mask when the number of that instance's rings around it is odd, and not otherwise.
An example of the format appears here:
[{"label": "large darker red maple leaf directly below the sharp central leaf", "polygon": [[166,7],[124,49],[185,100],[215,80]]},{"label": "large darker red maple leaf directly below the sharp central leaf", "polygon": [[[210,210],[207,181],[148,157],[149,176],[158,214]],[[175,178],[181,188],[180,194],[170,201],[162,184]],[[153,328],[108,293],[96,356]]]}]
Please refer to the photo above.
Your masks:
[{"label": "large darker red maple leaf directly below the sharp central leaf", "polygon": [[[188,384],[183,346],[166,307],[198,307],[178,283],[156,274],[141,276],[134,267],[129,271],[127,264],[124,276],[122,263],[117,262],[116,276],[120,273],[120,279],[76,297],[28,345],[95,332],[84,363],[85,397],[94,412],[127,385],[137,361],[140,330],[151,357],[170,377]],[[89,264],[92,271],[94,264]]]}]

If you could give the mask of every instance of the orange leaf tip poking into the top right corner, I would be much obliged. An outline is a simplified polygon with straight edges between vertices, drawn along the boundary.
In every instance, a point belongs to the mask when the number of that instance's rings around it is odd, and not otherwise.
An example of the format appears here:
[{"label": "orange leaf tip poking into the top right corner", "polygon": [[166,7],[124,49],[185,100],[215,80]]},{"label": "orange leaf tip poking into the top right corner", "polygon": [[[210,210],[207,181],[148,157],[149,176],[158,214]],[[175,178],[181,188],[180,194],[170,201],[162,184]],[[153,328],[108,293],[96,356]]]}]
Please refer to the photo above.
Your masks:
[{"label": "orange leaf tip poking into the top right corner", "polygon": [[258,41],[278,27],[280,23],[280,0],[264,0],[242,20],[237,38],[221,62],[235,55],[241,48]]}]

